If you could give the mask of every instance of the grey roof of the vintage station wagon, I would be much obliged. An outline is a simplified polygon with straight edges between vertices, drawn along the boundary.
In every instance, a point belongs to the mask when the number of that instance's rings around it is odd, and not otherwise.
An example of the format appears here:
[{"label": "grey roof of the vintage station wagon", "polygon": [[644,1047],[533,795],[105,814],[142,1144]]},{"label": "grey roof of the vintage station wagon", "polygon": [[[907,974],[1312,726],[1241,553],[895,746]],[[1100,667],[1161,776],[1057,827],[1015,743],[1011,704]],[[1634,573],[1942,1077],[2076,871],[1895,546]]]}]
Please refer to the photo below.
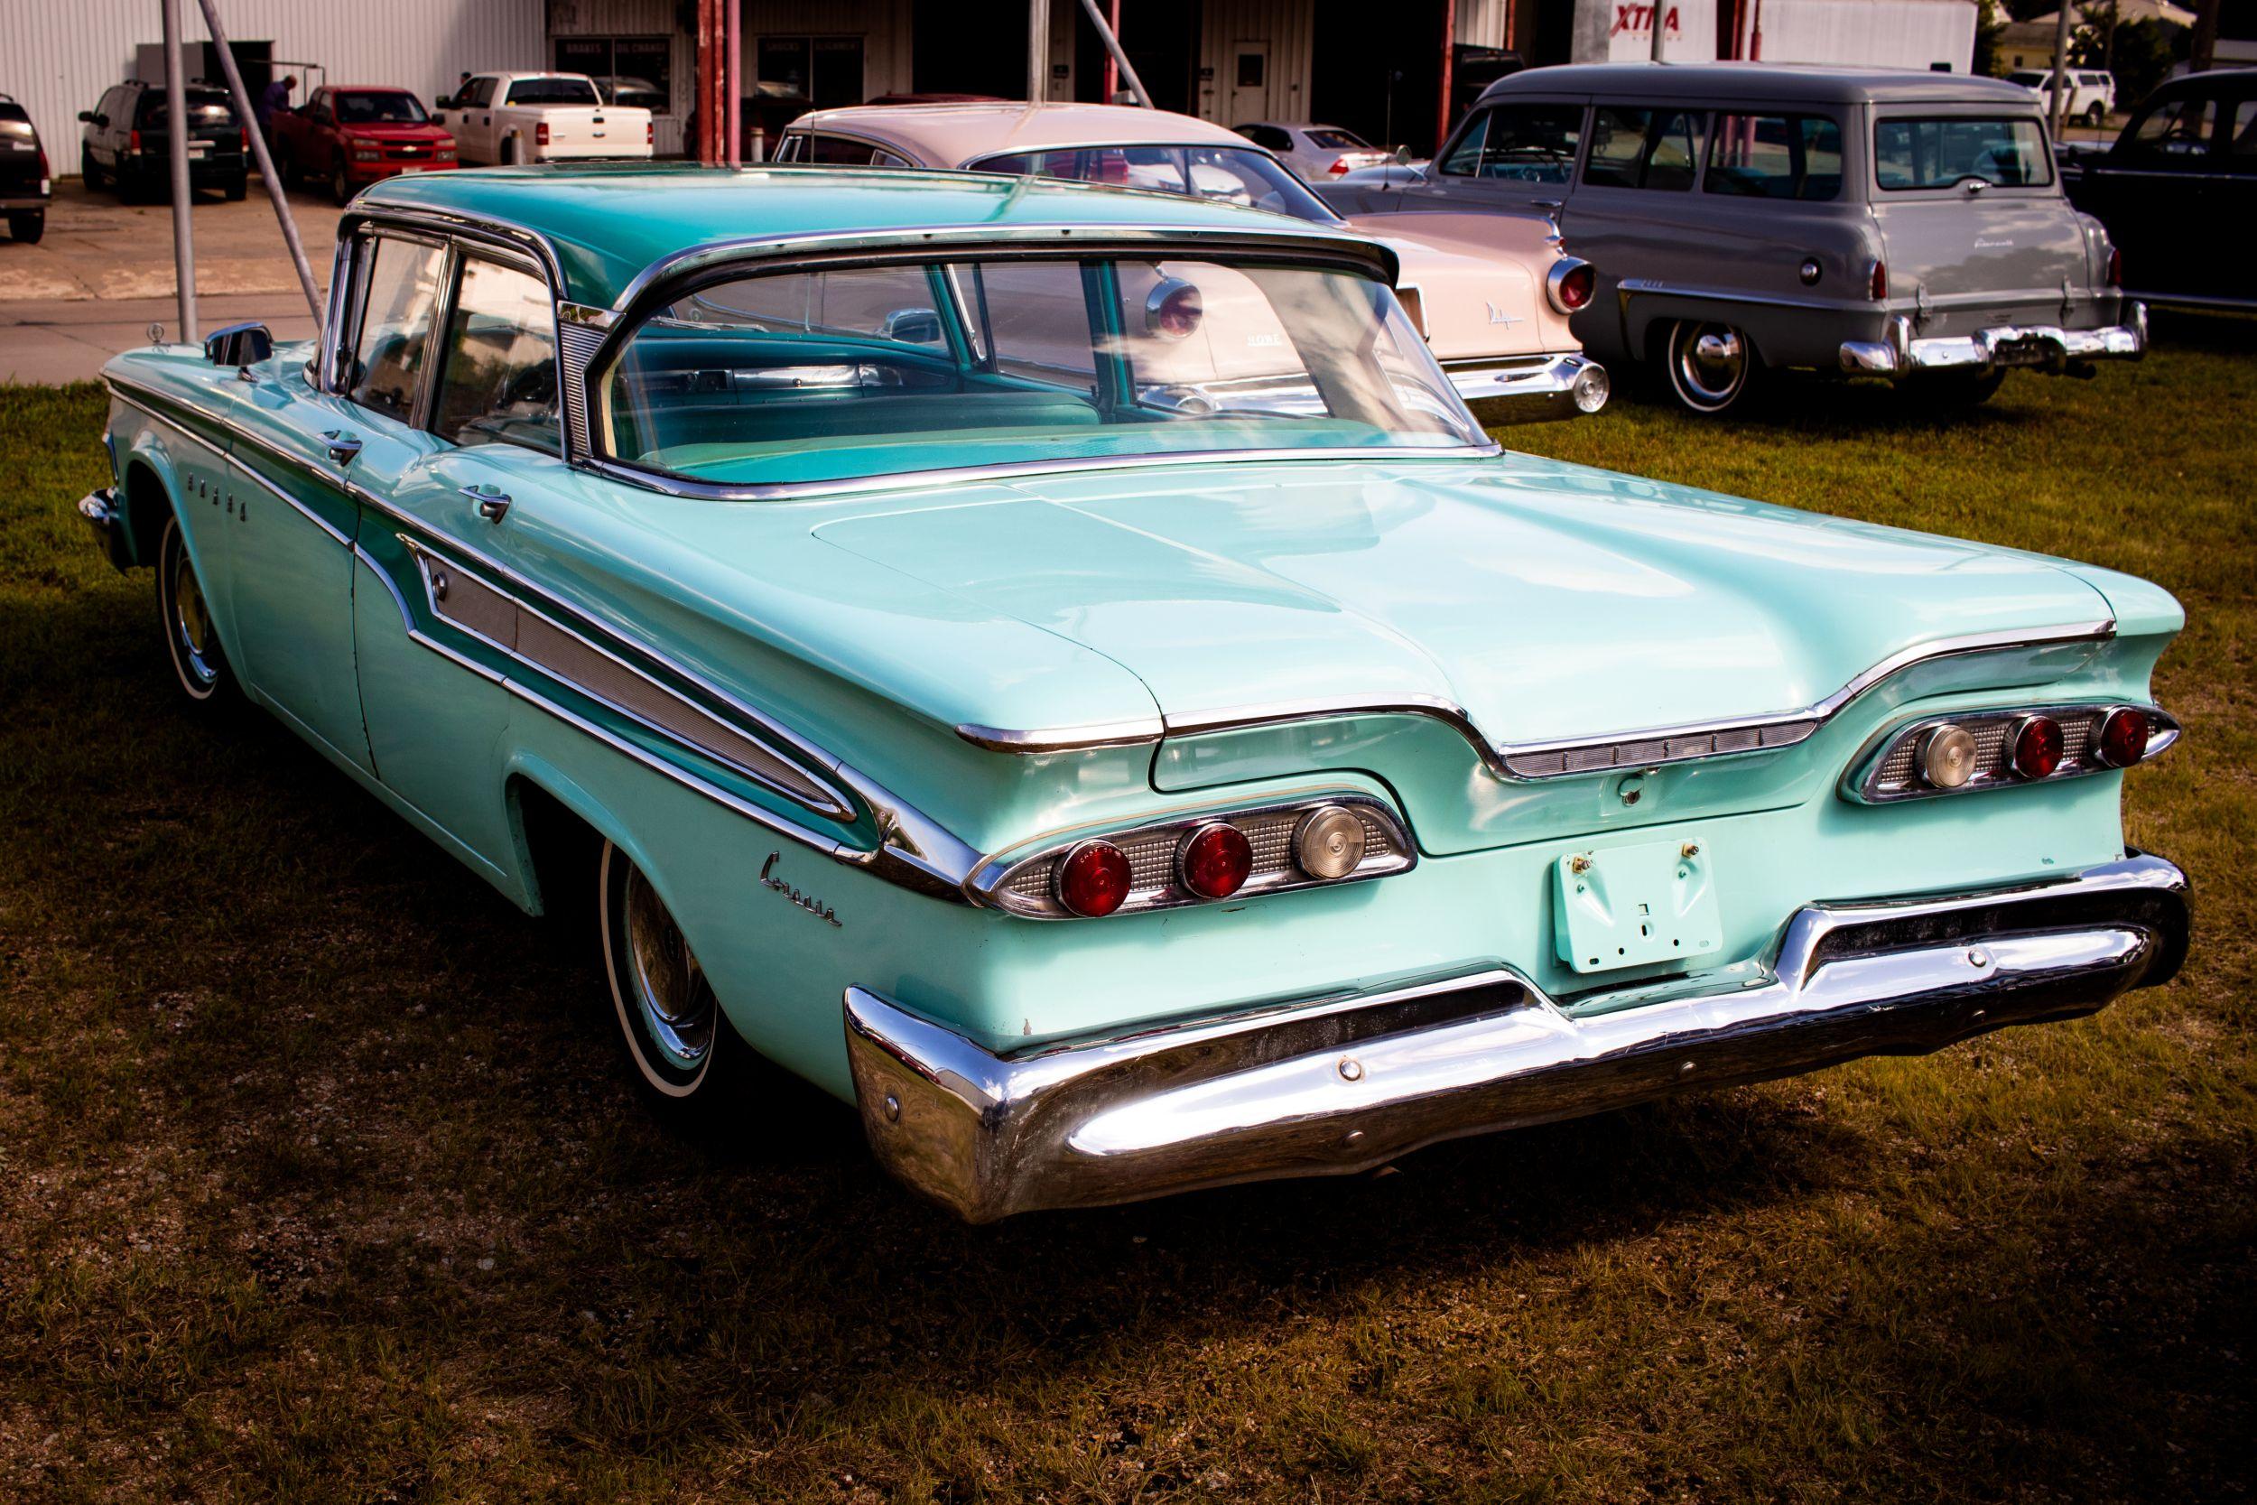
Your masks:
[{"label": "grey roof of the vintage station wagon", "polygon": [[1510,72],[1481,90],[1481,102],[1514,95],[1621,95],[1781,104],[2016,104],[2029,90],[2006,79],[1912,68],[1815,68],[1790,63],[1564,63]]}]

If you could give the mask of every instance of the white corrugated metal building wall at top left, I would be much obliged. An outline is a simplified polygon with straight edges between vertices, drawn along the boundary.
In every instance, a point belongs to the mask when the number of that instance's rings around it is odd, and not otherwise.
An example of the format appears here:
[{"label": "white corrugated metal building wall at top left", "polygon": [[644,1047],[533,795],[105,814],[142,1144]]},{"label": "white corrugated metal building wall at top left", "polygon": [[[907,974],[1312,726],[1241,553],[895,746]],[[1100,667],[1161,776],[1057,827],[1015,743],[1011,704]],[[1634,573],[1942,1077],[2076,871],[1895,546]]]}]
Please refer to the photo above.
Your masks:
[{"label": "white corrugated metal building wall at top left", "polygon": [[[181,9],[183,38],[203,43],[203,7]],[[424,104],[465,70],[546,59],[544,0],[219,0],[219,20],[232,41],[271,41],[278,61],[327,65],[332,83],[397,83]],[[0,0],[0,90],[32,113],[56,174],[79,171],[79,111],[160,38],[158,0]]]}]

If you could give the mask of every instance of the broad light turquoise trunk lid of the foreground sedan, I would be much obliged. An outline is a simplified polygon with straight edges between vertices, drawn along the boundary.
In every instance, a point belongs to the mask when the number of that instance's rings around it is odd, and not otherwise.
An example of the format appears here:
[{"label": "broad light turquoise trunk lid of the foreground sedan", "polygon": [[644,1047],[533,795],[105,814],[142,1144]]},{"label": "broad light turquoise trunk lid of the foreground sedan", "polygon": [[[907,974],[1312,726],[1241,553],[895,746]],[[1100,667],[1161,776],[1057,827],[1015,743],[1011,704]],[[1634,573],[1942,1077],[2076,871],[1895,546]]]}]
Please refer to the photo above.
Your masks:
[{"label": "broad light turquoise trunk lid of the foreground sedan", "polygon": [[1794,711],[1912,645],[2110,616],[2034,555],[1530,456],[1022,478],[815,535],[1110,657],[1171,720],[1444,699],[1505,745]]}]

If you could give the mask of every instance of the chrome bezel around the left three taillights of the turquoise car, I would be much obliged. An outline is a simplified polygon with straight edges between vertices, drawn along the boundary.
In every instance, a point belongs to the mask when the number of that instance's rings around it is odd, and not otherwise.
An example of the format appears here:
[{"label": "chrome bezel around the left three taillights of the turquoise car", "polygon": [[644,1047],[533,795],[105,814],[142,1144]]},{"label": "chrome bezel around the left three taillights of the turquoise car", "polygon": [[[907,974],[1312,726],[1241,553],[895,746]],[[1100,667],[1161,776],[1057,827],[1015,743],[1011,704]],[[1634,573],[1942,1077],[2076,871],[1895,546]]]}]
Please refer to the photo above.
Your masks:
[{"label": "chrome bezel around the left three taillights of the turquoise car", "polygon": [[[1302,821],[1325,808],[1343,808],[1363,821],[1363,860],[1341,878],[1311,878],[1296,857]],[[1203,898],[1183,882],[1183,844],[1207,826],[1237,826],[1255,846],[1255,869],[1237,891]],[[1088,842],[1110,842],[1128,853],[1128,898],[1113,914],[1081,916],[1059,900],[1059,869]],[[1282,853],[1282,855],[1280,855]],[[1417,866],[1417,848],[1404,819],[1381,799],[1361,792],[1332,790],[1305,799],[1241,806],[1228,810],[1189,810],[1135,826],[1077,830],[1034,851],[1013,848],[980,864],[964,884],[973,903],[1029,921],[1110,921],[1124,914],[1183,909],[1187,905],[1241,905],[1266,894],[1296,889],[1336,889],[1345,882],[1370,882],[1408,873]]]}]

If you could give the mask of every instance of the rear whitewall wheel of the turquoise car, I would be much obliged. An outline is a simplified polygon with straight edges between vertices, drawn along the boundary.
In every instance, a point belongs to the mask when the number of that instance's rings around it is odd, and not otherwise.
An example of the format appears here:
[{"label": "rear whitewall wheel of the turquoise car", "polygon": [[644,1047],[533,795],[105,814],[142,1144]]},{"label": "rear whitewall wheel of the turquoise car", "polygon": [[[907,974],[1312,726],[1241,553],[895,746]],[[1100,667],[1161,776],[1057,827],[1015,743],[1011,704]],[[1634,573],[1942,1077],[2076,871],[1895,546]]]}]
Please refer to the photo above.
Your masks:
[{"label": "rear whitewall wheel of the turquoise car", "polygon": [[722,1056],[736,1047],[736,1027],[722,1015],[713,984],[627,853],[605,842],[596,882],[603,970],[636,1074],[668,1110],[713,1101],[715,1079],[729,1076]]}]

